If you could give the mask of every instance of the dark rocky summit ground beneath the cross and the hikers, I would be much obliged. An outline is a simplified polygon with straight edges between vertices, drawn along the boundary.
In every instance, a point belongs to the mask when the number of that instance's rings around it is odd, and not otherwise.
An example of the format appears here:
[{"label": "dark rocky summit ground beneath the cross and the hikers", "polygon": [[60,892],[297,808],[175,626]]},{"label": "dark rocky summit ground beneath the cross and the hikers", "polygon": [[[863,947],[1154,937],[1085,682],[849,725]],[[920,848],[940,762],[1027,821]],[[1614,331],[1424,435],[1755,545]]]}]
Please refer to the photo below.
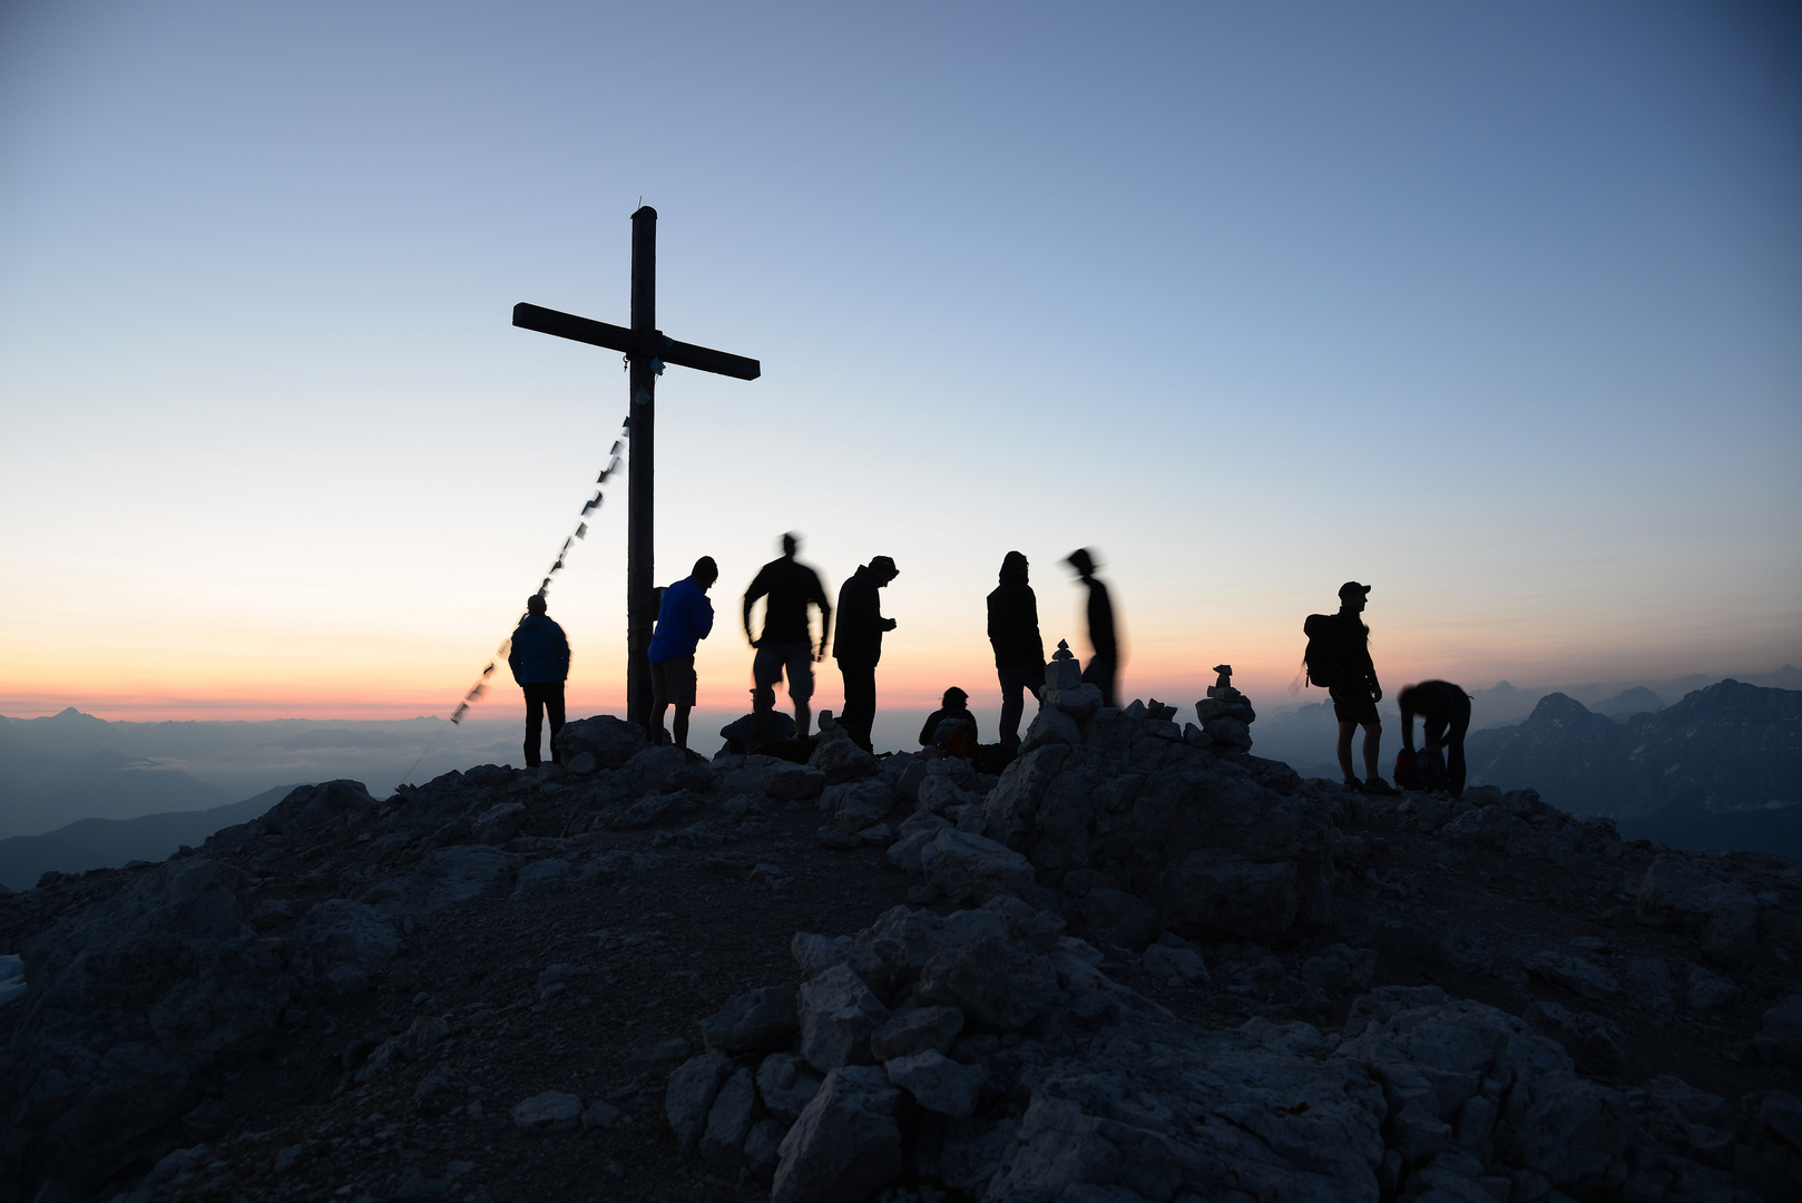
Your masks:
[{"label": "dark rocky summit ground beneath the cross and the hikers", "polygon": [[1802,868],[1049,673],[1000,776],[598,716],[0,898],[0,1201],[1802,1198]]}]

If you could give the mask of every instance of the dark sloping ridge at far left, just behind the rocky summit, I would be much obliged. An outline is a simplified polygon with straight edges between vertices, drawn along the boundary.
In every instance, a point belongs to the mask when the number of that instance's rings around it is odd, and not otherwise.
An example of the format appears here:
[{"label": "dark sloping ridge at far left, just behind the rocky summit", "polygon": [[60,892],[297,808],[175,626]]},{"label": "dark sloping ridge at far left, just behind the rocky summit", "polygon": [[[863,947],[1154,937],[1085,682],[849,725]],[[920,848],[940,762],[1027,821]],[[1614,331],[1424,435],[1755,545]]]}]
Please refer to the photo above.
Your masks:
[{"label": "dark sloping ridge at far left, just behind the rocky summit", "polygon": [[86,873],[115,869],[132,860],[164,860],[182,844],[198,848],[214,831],[256,819],[296,788],[299,786],[283,785],[241,803],[209,810],[178,810],[135,819],[79,819],[43,835],[0,839],[0,886],[29,889],[52,869]]}]

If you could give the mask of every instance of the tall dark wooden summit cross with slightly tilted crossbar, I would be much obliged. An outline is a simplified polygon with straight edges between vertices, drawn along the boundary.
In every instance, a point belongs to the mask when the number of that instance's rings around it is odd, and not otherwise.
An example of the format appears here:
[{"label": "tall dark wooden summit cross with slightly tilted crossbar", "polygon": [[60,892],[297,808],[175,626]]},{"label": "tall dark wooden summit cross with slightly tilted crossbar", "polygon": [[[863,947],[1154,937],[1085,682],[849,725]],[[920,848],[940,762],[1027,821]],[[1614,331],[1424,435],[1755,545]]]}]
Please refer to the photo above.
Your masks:
[{"label": "tall dark wooden summit cross with slightly tilted crossbar", "polygon": [[514,307],[514,325],[625,352],[633,368],[625,501],[625,718],[633,723],[645,723],[651,718],[651,631],[658,620],[656,584],[652,581],[658,373],[663,372],[663,364],[678,364],[739,381],[755,381],[762,375],[762,366],[742,355],[678,343],[658,330],[658,211],[651,206],[643,206],[633,215],[631,330],[526,303]]}]

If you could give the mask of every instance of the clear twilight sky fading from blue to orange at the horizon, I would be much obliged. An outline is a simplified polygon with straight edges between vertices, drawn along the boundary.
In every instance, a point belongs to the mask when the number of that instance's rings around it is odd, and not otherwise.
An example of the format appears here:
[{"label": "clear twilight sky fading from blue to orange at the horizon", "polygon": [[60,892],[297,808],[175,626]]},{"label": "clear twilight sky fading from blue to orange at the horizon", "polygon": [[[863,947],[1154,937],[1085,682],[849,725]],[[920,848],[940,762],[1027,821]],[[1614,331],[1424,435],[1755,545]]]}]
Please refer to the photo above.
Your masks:
[{"label": "clear twilight sky fading from blue to orange at the horizon", "polygon": [[786,528],[899,563],[897,705],[995,689],[1009,548],[1087,651],[1079,545],[1128,696],[1288,700],[1352,577],[1393,684],[1802,660],[1798,63],[1793,5],[13,0],[0,712],[447,714],[625,411],[510,308],[627,321],[640,198],[660,325],[764,364],[658,393],[706,705]]}]

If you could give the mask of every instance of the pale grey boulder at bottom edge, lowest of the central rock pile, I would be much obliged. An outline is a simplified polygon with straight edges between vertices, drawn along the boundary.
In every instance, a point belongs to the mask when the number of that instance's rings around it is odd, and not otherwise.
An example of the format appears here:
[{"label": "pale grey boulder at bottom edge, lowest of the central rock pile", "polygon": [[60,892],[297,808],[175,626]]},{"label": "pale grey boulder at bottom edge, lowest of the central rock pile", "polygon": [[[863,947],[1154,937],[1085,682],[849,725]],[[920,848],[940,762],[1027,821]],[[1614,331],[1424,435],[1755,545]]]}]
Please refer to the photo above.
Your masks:
[{"label": "pale grey boulder at bottom edge, lowest of the central rock pile", "polygon": [[906,1097],[870,1066],[825,1075],[780,1145],[771,1203],[858,1203],[903,1169]]}]

